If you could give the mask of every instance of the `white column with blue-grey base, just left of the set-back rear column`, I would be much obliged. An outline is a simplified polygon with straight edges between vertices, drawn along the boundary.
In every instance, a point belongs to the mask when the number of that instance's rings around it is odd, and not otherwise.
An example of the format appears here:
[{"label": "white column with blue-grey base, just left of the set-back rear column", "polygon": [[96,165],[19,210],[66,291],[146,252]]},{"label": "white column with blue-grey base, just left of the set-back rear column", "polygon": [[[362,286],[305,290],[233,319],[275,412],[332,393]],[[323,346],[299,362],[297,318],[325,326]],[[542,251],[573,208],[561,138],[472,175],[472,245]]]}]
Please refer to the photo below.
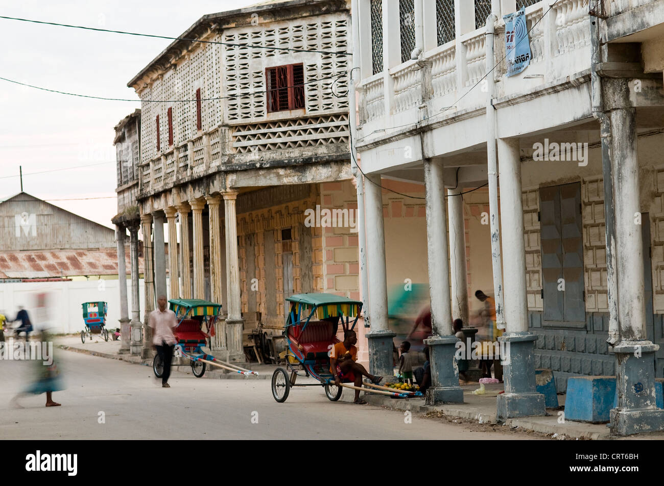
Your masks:
[{"label": "white column with blue-grey base, just left of the set-back rear column", "polygon": [[432,377],[432,387],[426,393],[426,402],[463,403],[455,357],[457,338],[452,332],[442,160],[424,160],[424,186],[431,324],[434,332],[430,339],[425,339],[429,345]]}]

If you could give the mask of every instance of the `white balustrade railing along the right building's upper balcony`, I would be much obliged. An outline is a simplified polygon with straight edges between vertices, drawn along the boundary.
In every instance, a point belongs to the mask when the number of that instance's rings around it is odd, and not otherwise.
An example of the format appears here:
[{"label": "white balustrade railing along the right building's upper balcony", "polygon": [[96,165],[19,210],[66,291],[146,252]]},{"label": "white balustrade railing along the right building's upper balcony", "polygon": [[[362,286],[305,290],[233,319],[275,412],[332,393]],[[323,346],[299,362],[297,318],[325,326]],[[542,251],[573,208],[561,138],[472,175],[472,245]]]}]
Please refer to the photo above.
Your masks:
[{"label": "white balustrade railing along the right building's upper balcony", "polygon": [[[606,0],[609,1],[609,0]],[[614,0],[614,3],[637,3],[652,0]],[[590,69],[590,0],[542,0],[526,8],[531,47],[531,62],[520,74],[506,76],[505,24],[497,22],[495,36],[496,96],[504,97],[530,91],[537,86],[564,80],[567,76]],[[624,7],[624,5],[623,5]],[[621,7],[621,8],[623,8]],[[362,80],[360,93],[361,132],[379,139],[386,137],[386,127],[403,127],[420,121],[418,107],[426,100],[428,113],[481,109],[486,103],[486,90],[481,84],[487,72],[486,29],[467,32],[442,46],[424,52],[424,69],[408,60],[389,70],[389,76],[378,73]],[[386,86],[384,80],[389,79]],[[422,82],[430,79],[428,93],[422,97]],[[472,95],[466,95],[473,90]],[[454,110],[448,111],[448,108]]]}]

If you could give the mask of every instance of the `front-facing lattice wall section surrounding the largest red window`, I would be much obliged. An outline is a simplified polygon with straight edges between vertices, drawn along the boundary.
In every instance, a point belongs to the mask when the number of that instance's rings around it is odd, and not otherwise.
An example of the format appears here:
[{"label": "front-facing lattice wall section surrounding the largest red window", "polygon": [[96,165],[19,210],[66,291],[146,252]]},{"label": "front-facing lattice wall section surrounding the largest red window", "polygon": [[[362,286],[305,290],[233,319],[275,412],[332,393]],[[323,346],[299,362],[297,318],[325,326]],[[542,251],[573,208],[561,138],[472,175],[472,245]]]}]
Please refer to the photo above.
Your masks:
[{"label": "front-facing lattice wall section surrounding the largest red window", "polygon": [[[222,50],[226,121],[243,123],[233,132],[236,152],[348,143],[343,111],[348,109],[349,56],[274,49],[346,52],[348,28],[347,15],[340,13],[226,30],[224,42],[240,44]],[[266,68],[299,63],[304,110],[267,113]]]}]

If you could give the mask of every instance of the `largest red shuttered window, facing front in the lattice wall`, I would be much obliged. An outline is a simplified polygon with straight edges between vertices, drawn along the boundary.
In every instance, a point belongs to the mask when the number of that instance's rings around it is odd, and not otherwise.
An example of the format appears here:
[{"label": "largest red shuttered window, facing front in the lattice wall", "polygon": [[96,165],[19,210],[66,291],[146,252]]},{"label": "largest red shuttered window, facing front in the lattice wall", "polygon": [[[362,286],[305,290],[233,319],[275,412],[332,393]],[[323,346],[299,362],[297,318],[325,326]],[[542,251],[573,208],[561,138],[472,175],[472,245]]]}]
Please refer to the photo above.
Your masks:
[{"label": "largest red shuttered window, facing front in the lattice wall", "polygon": [[267,68],[268,113],[304,108],[304,68],[302,64],[289,64]]}]

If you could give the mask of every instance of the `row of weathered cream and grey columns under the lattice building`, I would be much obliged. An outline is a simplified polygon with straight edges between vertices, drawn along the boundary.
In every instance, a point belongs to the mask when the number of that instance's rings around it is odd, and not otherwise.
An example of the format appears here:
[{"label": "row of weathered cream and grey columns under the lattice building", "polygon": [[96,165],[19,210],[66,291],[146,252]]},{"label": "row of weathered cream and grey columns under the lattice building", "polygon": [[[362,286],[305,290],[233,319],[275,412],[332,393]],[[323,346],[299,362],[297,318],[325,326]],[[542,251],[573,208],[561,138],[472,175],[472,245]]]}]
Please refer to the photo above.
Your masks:
[{"label": "row of weathered cream and grey columns under the lattice building", "polygon": [[[236,219],[236,192],[223,192],[220,196],[207,196],[193,199],[162,211],[141,215],[143,232],[143,260],[145,283],[145,309],[143,322],[139,318],[138,300],[138,226],[118,226],[118,274],[126,281],[125,270],[125,233],[131,235],[131,288],[132,319],[127,312],[127,288],[120,285],[120,308],[122,327],[122,353],[141,354],[143,358],[151,356],[151,332],[147,326],[149,313],[155,308],[155,297],[169,294],[170,298],[205,299],[205,259],[203,254],[205,235],[203,232],[203,210],[208,205],[209,212],[209,247],[210,247],[210,290],[213,302],[222,304],[227,314],[225,320],[219,318],[215,324],[215,336],[212,338],[212,352],[220,359],[232,362],[244,361],[242,347],[242,318],[240,302],[240,268],[238,265],[238,239]],[[220,205],[224,201],[225,241],[222,242],[222,219]],[[189,217],[193,222],[193,235],[190,248]],[[177,251],[177,215],[180,216],[180,249]],[[166,283],[166,256],[163,226],[168,224],[169,258],[168,268],[171,279]],[[222,248],[225,251],[222,251]],[[193,254],[193,268],[189,255]],[[229,264],[226,265],[226,262]],[[180,287],[178,269],[181,269]],[[225,274],[225,275],[224,275]],[[141,334],[142,328],[142,334]]]}]

